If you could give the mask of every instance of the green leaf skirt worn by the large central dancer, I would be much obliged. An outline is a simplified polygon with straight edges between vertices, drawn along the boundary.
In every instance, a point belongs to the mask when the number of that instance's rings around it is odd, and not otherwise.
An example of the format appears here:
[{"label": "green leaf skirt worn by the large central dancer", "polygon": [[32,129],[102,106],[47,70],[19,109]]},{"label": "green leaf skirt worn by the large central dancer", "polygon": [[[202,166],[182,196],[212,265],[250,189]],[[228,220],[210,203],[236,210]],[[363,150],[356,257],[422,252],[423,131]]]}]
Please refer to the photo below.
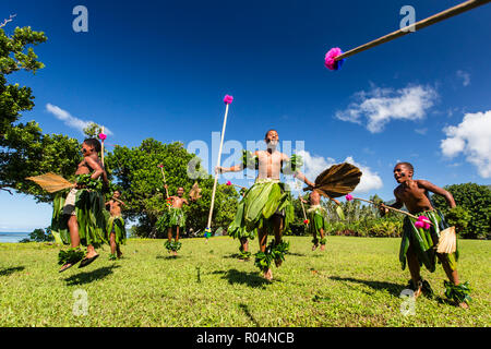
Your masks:
[{"label": "green leaf skirt worn by the large central dancer", "polygon": [[266,229],[273,233],[272,216],[284,214],[284,232],[295,218],[289,188],[277,181],[258,181],[242,197],[233,221],[228,227],[231,237],[255,236],[256,229]]}]

